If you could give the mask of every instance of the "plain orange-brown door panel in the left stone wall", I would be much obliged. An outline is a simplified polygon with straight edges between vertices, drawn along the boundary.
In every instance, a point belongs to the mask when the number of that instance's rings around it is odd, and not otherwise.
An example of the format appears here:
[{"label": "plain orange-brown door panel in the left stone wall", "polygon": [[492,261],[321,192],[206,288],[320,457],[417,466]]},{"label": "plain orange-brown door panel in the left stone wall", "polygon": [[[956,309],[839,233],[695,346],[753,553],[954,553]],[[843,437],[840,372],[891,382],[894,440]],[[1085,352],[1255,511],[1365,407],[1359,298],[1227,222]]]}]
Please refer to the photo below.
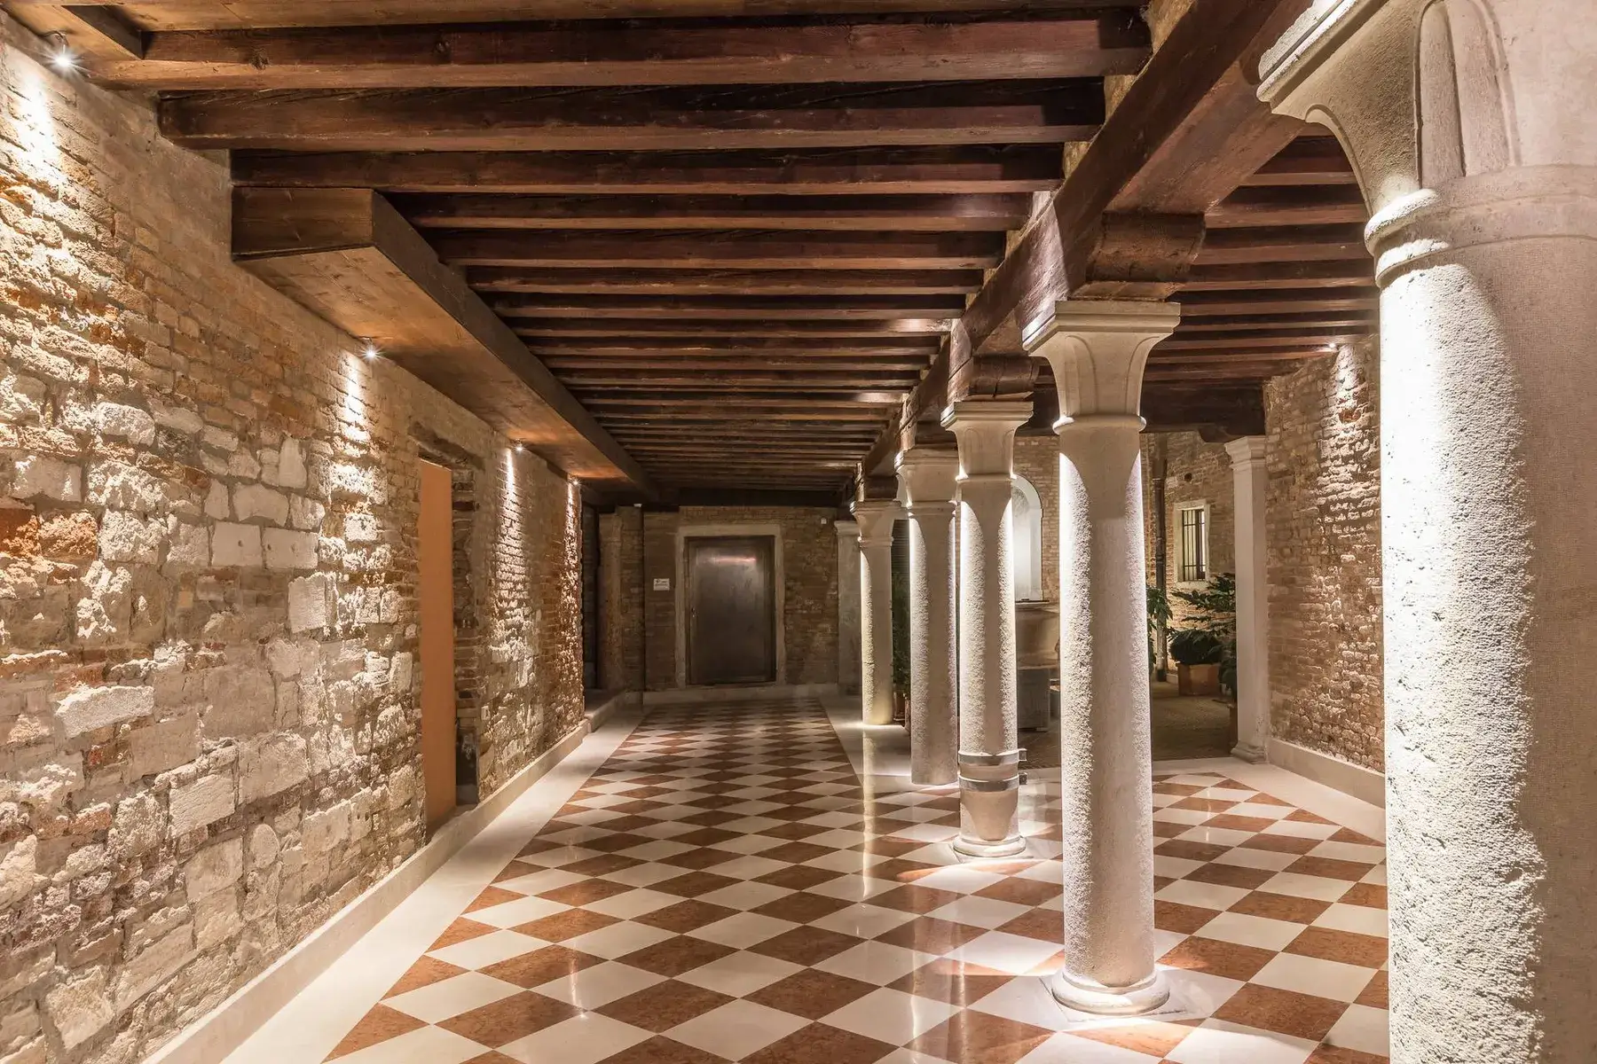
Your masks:
[{"label": "plain orange-brown door panel in the left stone wall", "polygon": [[454,487],[449,469],[422,463],[417,530],[422,600],[422,778],[426,826],[455,810]]}]

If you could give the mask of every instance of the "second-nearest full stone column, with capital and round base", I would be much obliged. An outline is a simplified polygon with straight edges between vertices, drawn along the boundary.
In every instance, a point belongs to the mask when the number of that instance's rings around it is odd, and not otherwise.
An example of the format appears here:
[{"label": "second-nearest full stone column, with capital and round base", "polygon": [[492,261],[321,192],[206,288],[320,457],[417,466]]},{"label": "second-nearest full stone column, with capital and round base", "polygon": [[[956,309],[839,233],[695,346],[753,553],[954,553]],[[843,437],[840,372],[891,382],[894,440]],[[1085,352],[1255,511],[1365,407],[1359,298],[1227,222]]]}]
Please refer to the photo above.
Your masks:
[{"label": "second-nearest full stone column, with capital and round base", "polygon": [[1153,745],[1142,526],[1142,370],[1180,321],[1150,301],[1064,301],[1027,338],[1059,386],[1060,740],[1070,1008],[1151,1011]]}]

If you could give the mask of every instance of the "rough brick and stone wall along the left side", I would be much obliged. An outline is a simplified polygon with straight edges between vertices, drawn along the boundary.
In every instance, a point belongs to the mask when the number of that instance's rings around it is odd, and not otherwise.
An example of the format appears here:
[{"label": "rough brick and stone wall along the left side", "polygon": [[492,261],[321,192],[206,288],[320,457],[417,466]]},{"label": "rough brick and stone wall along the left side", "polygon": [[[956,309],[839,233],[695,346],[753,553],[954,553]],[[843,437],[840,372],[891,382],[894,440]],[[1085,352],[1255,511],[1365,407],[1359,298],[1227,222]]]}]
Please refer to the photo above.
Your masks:
[{"label": "rough brick and stone wall along the left side", "polygon": [[121,1064],[423,842],[423,443],[476,472],[484,793],[581,716],[577,496],[236,270],[225,166],[24,40],[0,16],[0,1061]]}]

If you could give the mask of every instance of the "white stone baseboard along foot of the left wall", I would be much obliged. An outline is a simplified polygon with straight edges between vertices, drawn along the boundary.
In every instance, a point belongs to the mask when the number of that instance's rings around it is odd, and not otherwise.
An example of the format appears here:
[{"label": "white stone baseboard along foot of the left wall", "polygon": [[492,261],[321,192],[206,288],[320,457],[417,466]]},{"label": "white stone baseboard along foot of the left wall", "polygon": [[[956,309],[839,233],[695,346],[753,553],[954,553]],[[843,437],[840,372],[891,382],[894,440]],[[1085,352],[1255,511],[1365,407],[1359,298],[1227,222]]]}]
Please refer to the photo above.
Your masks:
[{"label": "white stone baseboard along foot of the left wall", "polygon": [[441,826],[426,845],[399,868],[372,884],[271,967],[238,987],[214,1010],[188,1024],[144,1064],[217,1064],[244,1043],[273,1013],[311,984],[350,946],[371,932],[444,861],[460,852],[482,828],[509,807],[529,786],[548,775],[577,750],[591,731],[583,719],[538,759],[513,775],[476,807]]}]

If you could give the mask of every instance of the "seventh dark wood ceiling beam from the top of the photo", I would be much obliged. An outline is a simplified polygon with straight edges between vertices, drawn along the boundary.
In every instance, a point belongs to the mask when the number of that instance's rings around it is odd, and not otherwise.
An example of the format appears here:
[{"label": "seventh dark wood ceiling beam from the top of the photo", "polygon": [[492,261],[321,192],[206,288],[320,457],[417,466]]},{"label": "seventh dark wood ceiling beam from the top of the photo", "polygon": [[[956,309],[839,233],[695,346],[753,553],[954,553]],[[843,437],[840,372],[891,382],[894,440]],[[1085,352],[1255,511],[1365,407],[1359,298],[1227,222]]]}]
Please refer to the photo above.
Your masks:
[{"label": "seventh dark wood ceiling beam from the top of the photo", "polygon": [[527,295],[497,298],[505,317],[610,321],[648,316],[653,321],[717,319],[727,322],[880,322],[910,317],[949,321],[965,300],[958,295]]}]

